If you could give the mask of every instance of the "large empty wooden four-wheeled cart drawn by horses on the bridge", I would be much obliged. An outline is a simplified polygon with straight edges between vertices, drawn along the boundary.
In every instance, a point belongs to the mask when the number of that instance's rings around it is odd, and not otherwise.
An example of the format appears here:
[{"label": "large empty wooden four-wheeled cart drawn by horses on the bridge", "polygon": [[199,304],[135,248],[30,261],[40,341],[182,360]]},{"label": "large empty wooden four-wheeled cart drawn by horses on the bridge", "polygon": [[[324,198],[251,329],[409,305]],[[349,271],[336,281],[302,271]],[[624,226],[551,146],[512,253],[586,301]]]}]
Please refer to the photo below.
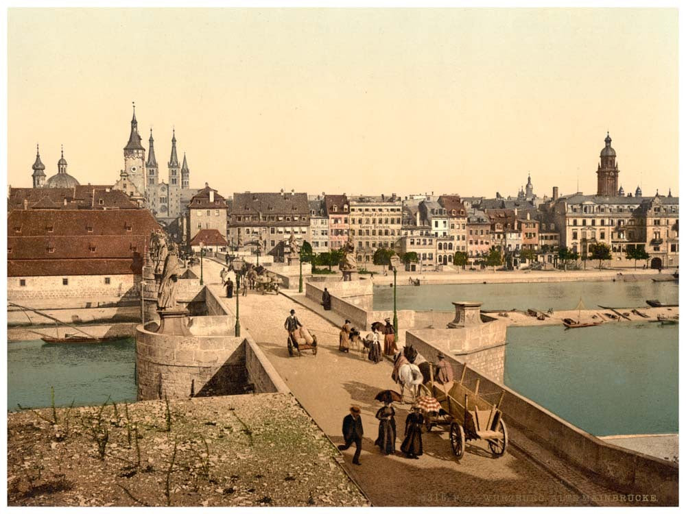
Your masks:
[{"label": "large empty wooden four-wheeled cart drawn by horses on the bridge", "polygon": [[[419,394],[433,397],[440,404],[440,411],[425,411],[427,432],[434,426],[449,430],[450,445],[458,460],[464,455],[465,441],[484,439],[495,457],[505,454],[508,448],[508,429],[499,409],[504,392],[498,403],[493,405],[479,395],[479,380],[474,391],[464,385],[466,365],[462,368],[460,381],[451,384],[434,382],[434,367],[429,367],[431,380],[419,387]],[[438,407],[438,406],[437,406]]]}]

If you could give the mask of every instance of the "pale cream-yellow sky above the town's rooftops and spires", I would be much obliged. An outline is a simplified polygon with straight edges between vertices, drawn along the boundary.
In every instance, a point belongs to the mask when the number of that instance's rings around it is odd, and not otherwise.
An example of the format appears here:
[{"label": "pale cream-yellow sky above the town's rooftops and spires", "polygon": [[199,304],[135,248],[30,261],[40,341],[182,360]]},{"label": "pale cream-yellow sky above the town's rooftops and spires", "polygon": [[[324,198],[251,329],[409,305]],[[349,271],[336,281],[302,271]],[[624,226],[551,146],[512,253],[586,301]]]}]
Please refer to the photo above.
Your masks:
[{"label": "pale cream-yellow sky above the town's rooftops and spires", "polygon": [[[8,183],[60,145],[81,184],[123,169],[132,101],[167,177],[242,191],[678,195],[676,9],[8,11]],[[577,185],[578,184],[578,185]]]}]

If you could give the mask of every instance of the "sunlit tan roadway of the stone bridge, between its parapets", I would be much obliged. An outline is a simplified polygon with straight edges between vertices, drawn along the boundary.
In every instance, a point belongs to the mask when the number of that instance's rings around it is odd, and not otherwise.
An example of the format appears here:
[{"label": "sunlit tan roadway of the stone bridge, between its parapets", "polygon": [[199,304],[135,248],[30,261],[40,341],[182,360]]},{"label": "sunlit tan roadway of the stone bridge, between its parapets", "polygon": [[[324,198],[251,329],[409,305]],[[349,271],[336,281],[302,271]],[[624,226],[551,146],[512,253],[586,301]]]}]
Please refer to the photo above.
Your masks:
[{"label": "sunlit tan roadway of the stone bridge, between its parapets", "polygon": [[[221,265],[204,260],[206,284],[224,306],[235,313],[236,301],[227,299],[218,284]],[[198,270],[199,271],[199,270]],[[215,282],[214,284],[212,282]],[[302,301],[302,300],[301,300]],[[316,356],[303,352],[289,357],[283,323],[294,308],[300,321],[316,334]],[[328,313],[327,313],[328,314]],[[456,461],[446,432],[423,436],[424,455],[410,460],[400,452],[407,405],[394,404],[397,424],[397,454],[384,456],[374,445],[381,406],[374,396],[381,389],[397,389],[391,380],[392,365],[383,360],[374,364],[366,356],[338,352],[338,327],[313,310],[304,308],[285,295],[261,295],[253,291],[240,299],[241,328],[248,330],[279,372],[298,402],[315,419],[331,440],[340,444],[342,418],[351,404],[362,407],[364,442],[362,465],[352,465],[353,448],[344,452],[344,467],[376,506],[515,506],[613,504],[584,498],[586,494],[611,493],[594,487],[590,480],[557,474],[542,467],[531,453],[510,445],[501,458],[492,458],[483,441],[470,441],[461,461]],[[550,454],[543,456],[546,460]],[[559,459],[558,459],[559,460]],[[563,467],[564,469],[565,467]],[[560,480],[561,478],[561,480]],[[585,482],[576,487],[577,481]],[[573,484],[569,487],[569,484]]]}]

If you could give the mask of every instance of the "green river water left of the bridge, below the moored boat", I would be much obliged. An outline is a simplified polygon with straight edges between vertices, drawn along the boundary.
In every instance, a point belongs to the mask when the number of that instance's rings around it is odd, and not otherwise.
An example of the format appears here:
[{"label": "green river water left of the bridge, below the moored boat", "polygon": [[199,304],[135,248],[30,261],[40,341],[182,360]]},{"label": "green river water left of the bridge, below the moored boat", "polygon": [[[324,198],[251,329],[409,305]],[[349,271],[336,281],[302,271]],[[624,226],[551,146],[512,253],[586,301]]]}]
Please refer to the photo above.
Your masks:
[{"label": "green river water left of the bridge, below the moored boat", "polygon": [[98,344],[57,344],[43,341],[8,343],[8,410],[136,401],[136,342],[122,339]]}]

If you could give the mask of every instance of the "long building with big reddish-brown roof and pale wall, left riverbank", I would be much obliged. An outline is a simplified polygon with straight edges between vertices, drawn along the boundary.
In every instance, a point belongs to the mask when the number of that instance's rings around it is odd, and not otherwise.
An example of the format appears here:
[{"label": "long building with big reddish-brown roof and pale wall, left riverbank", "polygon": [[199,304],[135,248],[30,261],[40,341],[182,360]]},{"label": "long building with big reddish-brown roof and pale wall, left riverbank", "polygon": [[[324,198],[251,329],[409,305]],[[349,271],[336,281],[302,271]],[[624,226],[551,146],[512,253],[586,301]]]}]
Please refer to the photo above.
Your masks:
[{"label": "long building with big reddish-brown roof and pale wall, left riverbank", "polygon": [[137,295],[159,228],[150,211],[128,208],[29,208],[7,220],[8,298],[16,301]]}]

